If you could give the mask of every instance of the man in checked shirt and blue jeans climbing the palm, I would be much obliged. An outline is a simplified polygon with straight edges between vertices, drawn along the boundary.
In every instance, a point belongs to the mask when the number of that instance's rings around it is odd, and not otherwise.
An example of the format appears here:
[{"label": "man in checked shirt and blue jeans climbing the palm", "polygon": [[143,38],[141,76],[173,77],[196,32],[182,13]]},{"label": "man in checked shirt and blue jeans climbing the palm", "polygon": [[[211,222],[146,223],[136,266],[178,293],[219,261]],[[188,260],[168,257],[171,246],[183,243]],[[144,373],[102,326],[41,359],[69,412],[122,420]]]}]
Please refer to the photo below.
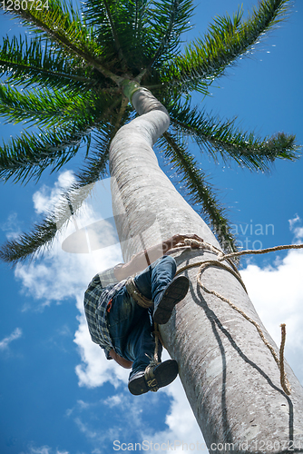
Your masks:
[{"label": "man in checked shirt and blue jeans climbing the palm", "polygon": [[197,235],[175,235],[139,252],[130,262],[97,274],[85,292],[84,310],[92,340],[103,348],[108,360],[132,368],[129,390],[134,395],[157,391],[178,373],[176,360],[161,363],[161,343],[152,336],[152,320],[167,323],[189,289],[185,276],[174,278],[176,262],[168,255],[184,238],[201,241]]}]

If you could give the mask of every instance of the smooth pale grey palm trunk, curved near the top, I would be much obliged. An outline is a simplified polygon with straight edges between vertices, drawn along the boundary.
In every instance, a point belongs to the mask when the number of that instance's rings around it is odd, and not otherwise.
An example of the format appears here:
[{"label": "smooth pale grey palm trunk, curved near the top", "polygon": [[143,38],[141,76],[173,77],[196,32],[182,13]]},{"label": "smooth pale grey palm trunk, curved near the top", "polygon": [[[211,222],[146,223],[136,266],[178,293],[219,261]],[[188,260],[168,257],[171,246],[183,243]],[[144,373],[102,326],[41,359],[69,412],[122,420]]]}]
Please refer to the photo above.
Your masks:
[{"label": "smooth pale grey palm trunk, curved near the top", "polygon": [[[142,246],[151,247],[176,233],[196,233],[220,247],[161,172],[152,151],[169,126],[166,110],[144,89],[133,94],[132,104],[141,116],[120,129],[110,152],[114,214],[126,212],[128,218],[117,225],[124,261]],[[174,252],[174,257],[179,266],[216,258],[201,250]],[[161,326],[161,336],[171,358],[178,361],[184,390],[210,452],[302,452],[303,390],[297,378],[286,364],[292,388],[287,396],[277,364],[256,328],[226,302],[200,290],[198,269],[183,271],[191,280],[190,291]],[[229,271],[210,267],[202,280],[257,321],[279,351]]]}]

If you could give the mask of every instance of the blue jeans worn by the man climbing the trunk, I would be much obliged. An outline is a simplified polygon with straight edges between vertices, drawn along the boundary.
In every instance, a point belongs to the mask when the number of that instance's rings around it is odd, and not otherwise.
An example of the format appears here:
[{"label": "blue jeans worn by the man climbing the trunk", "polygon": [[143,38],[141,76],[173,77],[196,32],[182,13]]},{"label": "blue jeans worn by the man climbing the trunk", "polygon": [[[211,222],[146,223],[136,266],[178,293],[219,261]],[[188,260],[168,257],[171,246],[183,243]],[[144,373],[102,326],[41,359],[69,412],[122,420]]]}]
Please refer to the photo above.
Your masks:
[{"label": "blue jeans worn by the man climbing the trunk", "polygon": [[[164,255],[138,274],[134,281],[143,296],[155,301],[171,282],[176,269],[175,260],[169,255]],[[139,306],[123,286],[112,299],[112,309],[107,314],[107,324],[115,352],[125,360],[133,361],[130,378],[134,373],[145,370],[155,350],[151,310]],[[159,342],[159,360],[161,360],[161,350]]]}]

